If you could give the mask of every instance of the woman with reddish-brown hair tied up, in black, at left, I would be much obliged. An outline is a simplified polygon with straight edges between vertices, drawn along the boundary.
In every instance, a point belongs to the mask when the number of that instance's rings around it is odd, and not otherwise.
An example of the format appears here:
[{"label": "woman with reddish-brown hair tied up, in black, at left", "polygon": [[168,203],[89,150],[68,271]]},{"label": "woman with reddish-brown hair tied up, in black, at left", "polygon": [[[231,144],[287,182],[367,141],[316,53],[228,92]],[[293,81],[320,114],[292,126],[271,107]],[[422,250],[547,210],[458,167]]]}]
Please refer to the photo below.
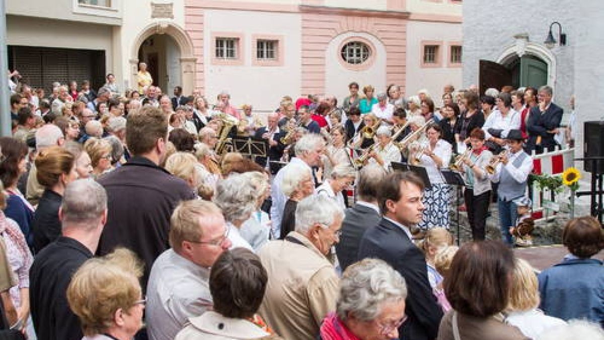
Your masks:
[{"label": "woman with reddish-brown hair tied up, in black, at left", "polygon": [[59,207],[66,186],[77,180],[76,157],[60,146],[52,146],[36,157],[36,177],[44,188],[31,227],[34,250],[39,252],[61,235]]}]

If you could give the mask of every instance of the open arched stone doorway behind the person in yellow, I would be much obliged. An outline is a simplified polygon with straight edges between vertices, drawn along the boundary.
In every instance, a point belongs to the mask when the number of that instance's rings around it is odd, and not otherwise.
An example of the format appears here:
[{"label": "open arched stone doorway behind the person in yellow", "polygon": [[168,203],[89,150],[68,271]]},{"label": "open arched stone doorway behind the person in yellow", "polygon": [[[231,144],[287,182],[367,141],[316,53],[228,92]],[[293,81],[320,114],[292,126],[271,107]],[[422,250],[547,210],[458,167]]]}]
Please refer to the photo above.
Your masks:
[{"label": "open arched stone doorway behind the person in yellow", "polygon": [[154,85],[172,94],[176,85],[184,94],[194,88],[195,61],[193,43],[188,34],[171,22],[156,22],[138,35],[130,50],[130,83],[137,84],[138,62],[149,66]]}]

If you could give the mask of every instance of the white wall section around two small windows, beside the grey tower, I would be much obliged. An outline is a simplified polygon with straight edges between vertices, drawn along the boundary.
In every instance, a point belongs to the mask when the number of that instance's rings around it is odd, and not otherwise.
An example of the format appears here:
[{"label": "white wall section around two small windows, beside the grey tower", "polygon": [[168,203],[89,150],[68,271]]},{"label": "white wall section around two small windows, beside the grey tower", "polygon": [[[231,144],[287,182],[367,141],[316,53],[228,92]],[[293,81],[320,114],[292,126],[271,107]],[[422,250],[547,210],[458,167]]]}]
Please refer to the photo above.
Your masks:
[{"label": "white wall section around two small windows, beside the grey tower", "polygon": [[[422,40],[442,41],[440,57],[442,66],[439,68],[420,67],[423,51]],[[426,88],[440,105],[443,86],[446,83],[454,85],[455,89],[461,88],[461,67],[450,68],[447,65],[448,42],[461,42],[461,25],[446,24],[442,22],[410,21],[407,24],[407,65],[406,65],[406,93],[409,97],[417,91]],[[463,57],[462,57],[463,59]]]}]

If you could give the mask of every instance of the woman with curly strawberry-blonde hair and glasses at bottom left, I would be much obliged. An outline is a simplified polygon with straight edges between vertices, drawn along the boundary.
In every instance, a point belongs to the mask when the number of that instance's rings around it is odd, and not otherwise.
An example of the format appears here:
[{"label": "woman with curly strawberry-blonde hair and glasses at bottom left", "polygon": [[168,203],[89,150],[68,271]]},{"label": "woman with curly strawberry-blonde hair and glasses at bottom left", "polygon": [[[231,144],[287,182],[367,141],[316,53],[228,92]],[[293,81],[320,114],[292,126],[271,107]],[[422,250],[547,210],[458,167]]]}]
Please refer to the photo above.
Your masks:
[{"label": "woman with curly strawberry-blonde hair and glasses at bottom left", "polygon": [[67,288],[69,307],[82,324],[82,340],[130,340],[143,327],[147,301],[138,282],[142,273],[136,255],[123,248],[82,264]]}]

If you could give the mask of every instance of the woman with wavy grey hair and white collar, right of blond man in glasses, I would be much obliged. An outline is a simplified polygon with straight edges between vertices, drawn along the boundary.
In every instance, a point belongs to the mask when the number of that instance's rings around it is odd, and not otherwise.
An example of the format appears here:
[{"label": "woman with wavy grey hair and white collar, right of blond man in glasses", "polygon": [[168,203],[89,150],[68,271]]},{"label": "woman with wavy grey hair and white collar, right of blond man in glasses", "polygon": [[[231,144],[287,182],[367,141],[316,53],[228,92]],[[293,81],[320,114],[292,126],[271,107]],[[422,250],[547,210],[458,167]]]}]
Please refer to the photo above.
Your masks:
[{"label": "woman with wavy grey hair and white collar, right of blond man in glasses", "polygon": [[242,174],[231,174],[219,181],[216,186],[216,193],[212,199],[222,210],[228,227],[228,238],[233,243],[231,249],[244,247],[254,251],[251,244],[241,236],[239,229],[256,211],[255,190],[256,188],[249,183],[248,177]]}]

